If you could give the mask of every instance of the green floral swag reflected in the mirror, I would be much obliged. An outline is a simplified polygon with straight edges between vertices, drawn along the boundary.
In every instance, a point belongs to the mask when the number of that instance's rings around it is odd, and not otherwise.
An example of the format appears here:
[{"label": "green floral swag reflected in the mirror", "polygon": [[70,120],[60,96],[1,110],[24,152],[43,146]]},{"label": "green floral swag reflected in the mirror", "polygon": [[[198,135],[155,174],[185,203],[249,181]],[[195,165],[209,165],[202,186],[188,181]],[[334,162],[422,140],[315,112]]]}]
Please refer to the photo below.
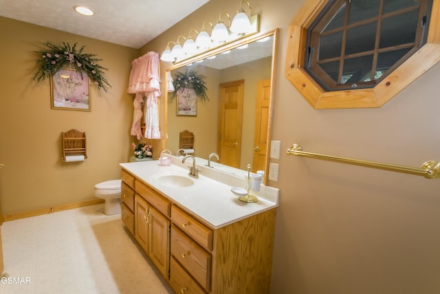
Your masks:
[{"label": "green floral swag reflected in the mirror", "polygon": [[201,98],[201,100],[209,100],[206,90],[208,88],[203,82],[202,74],[197,74],[195,70],[186,70],[186,72],[177,72],[173,78],[174,92],[171,94],[171,98],[174,99],[177,96],[177,92],[180,89],[194,89],[195,94]]}]

